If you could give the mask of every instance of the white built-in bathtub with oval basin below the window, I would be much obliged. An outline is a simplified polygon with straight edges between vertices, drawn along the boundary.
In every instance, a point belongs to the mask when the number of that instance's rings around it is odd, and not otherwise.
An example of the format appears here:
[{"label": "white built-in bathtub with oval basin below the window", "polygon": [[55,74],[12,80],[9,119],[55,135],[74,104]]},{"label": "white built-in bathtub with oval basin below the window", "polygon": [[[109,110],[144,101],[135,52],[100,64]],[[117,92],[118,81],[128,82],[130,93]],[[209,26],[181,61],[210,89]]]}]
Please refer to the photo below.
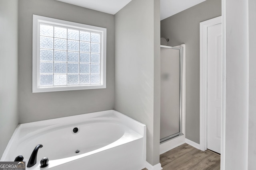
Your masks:
[{"label": "white built-in bathtub with oval basin below the window", "polygon": [[[14,161],[22,155],[27,165],[38,144],[43,147],[38,150],[37,163],[27,170],[145,168],[146,126],[115,110],[20,124],[1,161]],[[40,168],[43,157],[49,158],[46,168]]]}]

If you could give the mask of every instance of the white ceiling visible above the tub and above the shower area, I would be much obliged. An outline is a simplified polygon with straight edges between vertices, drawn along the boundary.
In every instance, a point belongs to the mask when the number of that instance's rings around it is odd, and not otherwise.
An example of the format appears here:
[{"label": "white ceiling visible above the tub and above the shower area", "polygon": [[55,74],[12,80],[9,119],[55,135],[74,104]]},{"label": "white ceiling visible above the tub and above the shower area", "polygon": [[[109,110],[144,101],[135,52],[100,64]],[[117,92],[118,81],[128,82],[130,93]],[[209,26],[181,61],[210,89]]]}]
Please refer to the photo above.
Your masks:
[{"label": "white ceiling visible above the tub and above the shower area", "polygon": [[[116,14],[131,0],[58,0],[68,4],[82,6],[92,10],[105,12],[108,14]],[[205,0],[160,0],[160,16],[161,20],[186,10]]]}]

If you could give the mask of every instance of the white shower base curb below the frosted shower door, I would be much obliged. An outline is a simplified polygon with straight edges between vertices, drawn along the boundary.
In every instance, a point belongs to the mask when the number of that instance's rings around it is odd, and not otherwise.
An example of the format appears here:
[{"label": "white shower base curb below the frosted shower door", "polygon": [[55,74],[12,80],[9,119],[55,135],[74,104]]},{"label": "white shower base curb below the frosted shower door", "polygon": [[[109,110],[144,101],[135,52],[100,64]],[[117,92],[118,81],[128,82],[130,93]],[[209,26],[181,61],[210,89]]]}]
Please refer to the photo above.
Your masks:
[{"label": "white shower base curb below the frosted shower door", "polygon": [[160,154],[165,153],[185,143],[185,135],[160,143]]}]

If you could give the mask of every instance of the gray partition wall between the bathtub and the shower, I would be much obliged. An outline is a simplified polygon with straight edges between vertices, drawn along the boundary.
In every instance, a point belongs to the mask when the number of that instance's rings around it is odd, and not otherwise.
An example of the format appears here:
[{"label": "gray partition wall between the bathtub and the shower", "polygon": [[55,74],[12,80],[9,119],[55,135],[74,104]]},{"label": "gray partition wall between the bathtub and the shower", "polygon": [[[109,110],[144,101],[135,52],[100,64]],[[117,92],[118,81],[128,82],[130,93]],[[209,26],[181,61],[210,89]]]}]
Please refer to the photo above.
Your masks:
[{"label": "gray partition wall between the bathtub and the shower", "polygon": [[[146,5],[145,5],[146,4]],[[147,125],[147,161],[159,163],[160,0],[115,14],[115,109]]]}]

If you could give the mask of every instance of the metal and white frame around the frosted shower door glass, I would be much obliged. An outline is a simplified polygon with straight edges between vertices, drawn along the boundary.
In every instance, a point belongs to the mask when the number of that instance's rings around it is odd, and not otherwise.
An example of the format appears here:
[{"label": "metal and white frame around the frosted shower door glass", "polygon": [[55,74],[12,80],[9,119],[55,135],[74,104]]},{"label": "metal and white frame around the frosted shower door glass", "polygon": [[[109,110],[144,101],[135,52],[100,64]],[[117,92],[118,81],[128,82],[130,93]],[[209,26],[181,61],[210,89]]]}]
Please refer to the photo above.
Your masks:
[{"label": "metal and white frame around the frosted shower door glass", "polygon": [[166,46],[166,45],[160,45],[161,48],[168,48],[168,49],[176,49],[176,50],[179,50],[180,51],[180,86],[179,86],[179,89],[180,89],[180,92],[179,92],[179,116],[180,116],[180,119],[179,119],[179,132],[178,133],[175,133],[173,135],[170,135],[168,137],[165,137],[163,139],[160,139],[160,143],[164,142],[164,141],[168,141],[170,139],[173,139],[174,137],[179,137],[181,135],[184,135],[185,132],[184,132],[184,129],[185,129],[185,90],[186,90],[186,86],[185,86],[185,82],[186,82],[186,79],[185,79],[185,44],[182,44],[182,45],[179,45],[179,46],[176,46],[176,47],[171,47],[171,46]]}]

